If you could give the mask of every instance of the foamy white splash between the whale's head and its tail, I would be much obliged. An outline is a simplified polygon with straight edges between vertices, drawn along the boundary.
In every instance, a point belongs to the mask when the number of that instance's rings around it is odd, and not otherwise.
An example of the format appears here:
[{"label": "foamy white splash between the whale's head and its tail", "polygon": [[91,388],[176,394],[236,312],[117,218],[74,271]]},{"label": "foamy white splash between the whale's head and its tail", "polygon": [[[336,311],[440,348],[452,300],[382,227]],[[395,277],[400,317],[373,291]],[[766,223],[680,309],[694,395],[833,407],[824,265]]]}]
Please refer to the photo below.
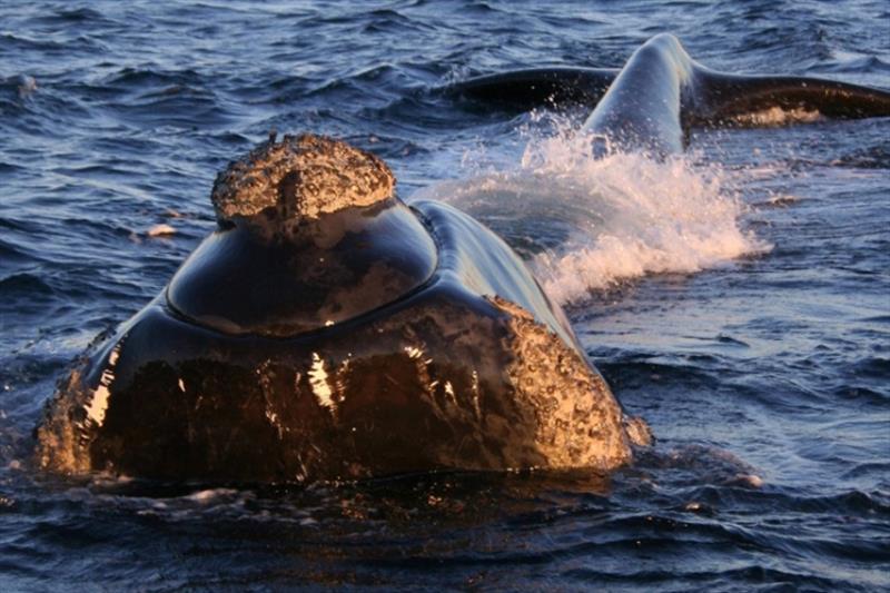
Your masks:
[{"label": "foamy white splash between the whale's head and its tail", "polygon": [[520,168],[421,197],[449,201],[520,248],[555,300],[657,273],[694,273],[769,250],[741,226],[745,207],[729,175],[685,157],[591,156],[566,130],[532,138]]}]

